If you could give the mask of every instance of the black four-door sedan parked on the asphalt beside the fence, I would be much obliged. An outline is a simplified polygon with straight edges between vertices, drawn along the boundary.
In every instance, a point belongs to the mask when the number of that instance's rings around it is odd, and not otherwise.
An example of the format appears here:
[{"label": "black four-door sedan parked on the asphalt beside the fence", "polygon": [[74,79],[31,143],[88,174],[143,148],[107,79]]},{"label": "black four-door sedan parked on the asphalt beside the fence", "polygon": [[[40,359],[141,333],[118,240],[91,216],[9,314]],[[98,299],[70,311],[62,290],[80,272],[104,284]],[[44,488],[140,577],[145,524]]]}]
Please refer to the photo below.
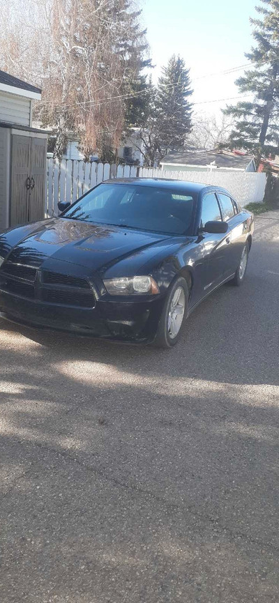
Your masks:
[{"label": "black four-door sedan parked on the asphalt beside the fence", "polygon": [[6,319],[171,347],[211,291],[243,282],[254,220],[223,188],[121,178],[59,210],[0,236]]}]

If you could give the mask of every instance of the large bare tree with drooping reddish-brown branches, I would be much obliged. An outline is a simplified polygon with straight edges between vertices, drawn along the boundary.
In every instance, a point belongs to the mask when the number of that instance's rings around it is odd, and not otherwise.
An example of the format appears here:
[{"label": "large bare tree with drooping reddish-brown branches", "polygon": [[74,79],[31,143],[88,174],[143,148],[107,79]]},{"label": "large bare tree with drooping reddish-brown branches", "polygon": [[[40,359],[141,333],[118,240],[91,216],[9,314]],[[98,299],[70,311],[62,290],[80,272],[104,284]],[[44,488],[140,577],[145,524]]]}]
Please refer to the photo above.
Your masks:
[{"label": "large bare tree with drooping reddish-brown branches", "polygon": [[146,50],[132,0],[3,0],[0,66],[43,88],[34,114],[56,130],[61,158],[69,130],[85,158],[116,148],[126,97]]}]

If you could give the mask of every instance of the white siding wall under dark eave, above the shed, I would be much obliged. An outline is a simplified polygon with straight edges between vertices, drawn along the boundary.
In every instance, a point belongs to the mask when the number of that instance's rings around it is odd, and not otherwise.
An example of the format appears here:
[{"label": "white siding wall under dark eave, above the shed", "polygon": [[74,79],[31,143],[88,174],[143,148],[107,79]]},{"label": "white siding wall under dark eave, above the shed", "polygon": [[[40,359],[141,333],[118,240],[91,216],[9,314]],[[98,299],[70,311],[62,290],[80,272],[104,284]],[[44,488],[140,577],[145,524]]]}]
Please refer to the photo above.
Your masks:
[{"label": "white siding wall under dark eave, above the shed", "polygon": [[0,121],[31,125],[31,100],[0,91]]}]

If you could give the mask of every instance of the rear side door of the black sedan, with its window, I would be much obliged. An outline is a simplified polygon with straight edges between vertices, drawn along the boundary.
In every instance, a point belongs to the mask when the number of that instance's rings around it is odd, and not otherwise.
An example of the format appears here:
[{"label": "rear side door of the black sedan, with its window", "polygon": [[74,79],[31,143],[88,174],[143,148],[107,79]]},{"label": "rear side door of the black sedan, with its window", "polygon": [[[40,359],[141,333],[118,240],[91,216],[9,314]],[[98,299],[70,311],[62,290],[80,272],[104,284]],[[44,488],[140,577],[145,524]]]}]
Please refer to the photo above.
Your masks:
[{"label": "rear side door of the black sedan, with its window", "polygon": [[227,222],[229,227],[229,254],[227,261],[224,263],[223,278],[229,277],[236,272],[237,266],[241,259],[241,253],[246,241],[246,230],[243,227],[243,217],[239,213],[239,208],[229,194],[218,192],[223,220]]}]

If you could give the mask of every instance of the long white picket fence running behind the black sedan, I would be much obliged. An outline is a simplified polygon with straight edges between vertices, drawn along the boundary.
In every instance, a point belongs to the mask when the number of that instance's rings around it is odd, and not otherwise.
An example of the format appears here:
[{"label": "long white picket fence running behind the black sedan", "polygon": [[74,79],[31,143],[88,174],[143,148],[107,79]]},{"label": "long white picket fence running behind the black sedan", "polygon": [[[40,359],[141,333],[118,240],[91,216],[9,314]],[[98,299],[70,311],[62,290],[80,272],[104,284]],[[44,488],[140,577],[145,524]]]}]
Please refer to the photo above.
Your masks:
[{"label": "long white picket fence running behind the black sedan", "polygon": [[266,175],[239,171],[163,171],[151,167],[47,159],[45,216],[58,214],[59,201],[76,201],[84,192],[109,178],[171,178],[227,188],[243,205],[264,199]]}]

